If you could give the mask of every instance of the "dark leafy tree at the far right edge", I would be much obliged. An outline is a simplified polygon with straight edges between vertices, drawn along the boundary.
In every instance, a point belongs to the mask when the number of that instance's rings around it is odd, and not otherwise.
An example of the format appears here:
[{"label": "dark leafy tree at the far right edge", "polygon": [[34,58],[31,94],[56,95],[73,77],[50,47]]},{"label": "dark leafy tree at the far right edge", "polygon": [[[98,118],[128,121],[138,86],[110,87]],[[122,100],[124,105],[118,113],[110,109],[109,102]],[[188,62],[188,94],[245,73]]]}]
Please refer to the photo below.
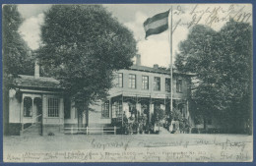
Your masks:
[{"label": "dark leafy tree at the far right edge", "polygon": [[[252,133],[252,27],[249,24],[230,21],[220,31],[223,36],[221,65],[224,77],[224,91],[228,94],[230,106],[225,110],[224,122],[240,133]],[[229,62],[229,63],[224,63]],[[230,131],[238,132],[238,131]]]}]

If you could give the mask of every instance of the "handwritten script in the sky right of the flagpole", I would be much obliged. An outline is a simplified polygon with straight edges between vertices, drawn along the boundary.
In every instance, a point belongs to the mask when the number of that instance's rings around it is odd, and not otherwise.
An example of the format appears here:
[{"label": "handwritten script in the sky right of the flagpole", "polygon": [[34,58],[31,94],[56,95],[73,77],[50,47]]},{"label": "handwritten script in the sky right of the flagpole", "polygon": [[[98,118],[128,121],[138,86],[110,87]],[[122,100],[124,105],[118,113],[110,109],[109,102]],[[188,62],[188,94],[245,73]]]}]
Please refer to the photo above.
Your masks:
[{"label": "handwritten script in the sky right of the flagpole", "polygon": [[[178,27],[191,28],[195,25],[205,25],[211,28],[218,27],[229,20],[236,22],[250,23],[252,19],[251,11],[247,11],[245,5],[236,6],[211,6],[195,5],[191,11],[183,9],[183,6],[177,6],[173,9],[172,31]],[[178,18],[178,19],[175,19]]]}]

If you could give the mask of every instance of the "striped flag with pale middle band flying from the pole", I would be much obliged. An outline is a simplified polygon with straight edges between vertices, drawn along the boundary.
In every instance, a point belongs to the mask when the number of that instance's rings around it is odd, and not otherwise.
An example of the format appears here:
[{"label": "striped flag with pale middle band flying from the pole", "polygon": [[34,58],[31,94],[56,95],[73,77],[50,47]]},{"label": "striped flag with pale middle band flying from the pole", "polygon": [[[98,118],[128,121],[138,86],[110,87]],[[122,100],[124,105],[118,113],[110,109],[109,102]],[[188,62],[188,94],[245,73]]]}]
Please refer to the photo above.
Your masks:
[{"label": "striped flag with pale middle band flying from the pole", "polygon": [[143,24],[146,32],[145,38],[147,38],[149,35],[159,34],[166,30],[168,28],[168,16],[169,10],[147,19],[147,21]]}]

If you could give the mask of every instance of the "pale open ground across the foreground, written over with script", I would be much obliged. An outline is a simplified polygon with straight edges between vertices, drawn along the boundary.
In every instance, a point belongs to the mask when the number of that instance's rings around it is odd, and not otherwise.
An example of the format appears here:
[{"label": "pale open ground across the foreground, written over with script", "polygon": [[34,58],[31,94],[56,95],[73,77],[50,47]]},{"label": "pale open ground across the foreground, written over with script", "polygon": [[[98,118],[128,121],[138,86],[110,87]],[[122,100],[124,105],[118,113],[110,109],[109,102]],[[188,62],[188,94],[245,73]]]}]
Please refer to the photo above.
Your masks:
[{"label": "pale open ground across the foreground, written over with script", "polygon": [[7,162],[251,161],[246,135],[64,135],[4,137]]}]

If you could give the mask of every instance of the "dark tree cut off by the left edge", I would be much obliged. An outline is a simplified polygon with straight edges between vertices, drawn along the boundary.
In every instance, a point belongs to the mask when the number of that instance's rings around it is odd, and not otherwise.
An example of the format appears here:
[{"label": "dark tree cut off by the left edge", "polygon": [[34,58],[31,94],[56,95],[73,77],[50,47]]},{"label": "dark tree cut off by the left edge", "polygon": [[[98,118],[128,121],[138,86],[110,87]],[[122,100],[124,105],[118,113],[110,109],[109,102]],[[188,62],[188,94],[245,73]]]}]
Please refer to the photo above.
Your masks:
[{"label": "dark tree cut off by the left edge", "polygon": [[9,119],[9,89],[14,88],[18,75],[31,75],[33,69],[30,48],[19,33],[23,19],[16,5],[4,5],[2,13],[3,41],[3,121],[4,134],[7,134]]}]

